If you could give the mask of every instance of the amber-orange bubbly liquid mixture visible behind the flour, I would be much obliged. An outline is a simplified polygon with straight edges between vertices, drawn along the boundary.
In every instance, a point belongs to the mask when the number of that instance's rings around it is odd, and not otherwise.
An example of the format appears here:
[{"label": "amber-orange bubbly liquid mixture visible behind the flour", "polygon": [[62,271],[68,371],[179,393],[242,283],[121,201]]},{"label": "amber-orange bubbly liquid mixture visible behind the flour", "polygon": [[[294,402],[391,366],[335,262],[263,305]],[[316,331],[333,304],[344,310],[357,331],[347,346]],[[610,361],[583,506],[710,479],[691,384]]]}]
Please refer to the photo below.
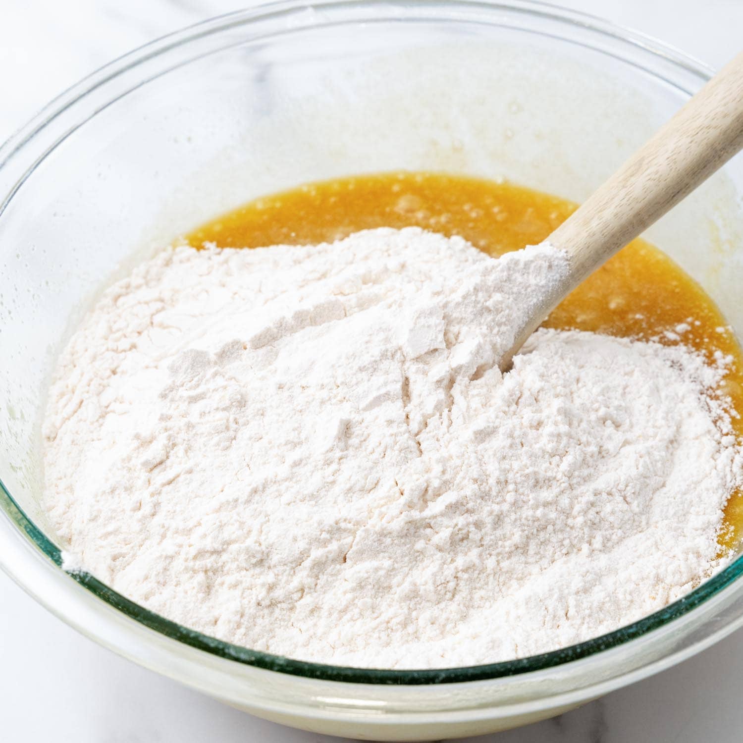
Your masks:
[{"label": "amber-orange bubbly liquid mixture visible behind the flour", "polygon": [[[220,247],[316,244],[374,227],[409,227],[459,235],[492,256],[545,239],[576,204],[480,178],[390,173],[308,184],[251,201],[195,230],[192,245]],[[733,357],[724,382],[733,426],[743,438],[743,354],[710,296],[661,250],[635,240],[590,276],[545,325],[685,343],[711,358]],[[725,510],[722,547],[743,531],[743,497]]]}]

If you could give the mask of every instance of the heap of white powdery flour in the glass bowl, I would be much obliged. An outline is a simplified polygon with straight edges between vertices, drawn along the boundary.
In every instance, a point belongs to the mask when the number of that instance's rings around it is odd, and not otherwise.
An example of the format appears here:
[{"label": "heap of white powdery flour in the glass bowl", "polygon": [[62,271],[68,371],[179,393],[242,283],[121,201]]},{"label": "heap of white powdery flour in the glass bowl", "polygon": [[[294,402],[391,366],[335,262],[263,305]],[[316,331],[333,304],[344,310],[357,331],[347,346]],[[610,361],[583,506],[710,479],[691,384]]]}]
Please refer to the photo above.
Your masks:
[{"label": "heap of white powdery flour in the glass bowl", "polygon": [[502,375],[566,267],[415,228],[160,254],[62,354],[62,542],[186,626],[345,665],[502,661],[661,608],[718,566],[741,484],[722,372],[540,330]]}]

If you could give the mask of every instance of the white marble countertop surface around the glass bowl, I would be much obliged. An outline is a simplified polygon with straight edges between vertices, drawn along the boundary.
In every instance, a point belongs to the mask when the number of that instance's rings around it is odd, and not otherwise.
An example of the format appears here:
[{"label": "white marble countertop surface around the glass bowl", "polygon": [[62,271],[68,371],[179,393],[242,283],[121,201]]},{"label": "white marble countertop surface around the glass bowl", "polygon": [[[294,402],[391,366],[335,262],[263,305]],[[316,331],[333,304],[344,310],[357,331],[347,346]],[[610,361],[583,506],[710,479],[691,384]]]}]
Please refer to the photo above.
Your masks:
[{"label": "white marble countertop surface around the glass bowl", "polygon": [[[157,36],[246,2],[0,0],[0,141],[80,77]],[[719,67],[743,47],[743,0],[562,0]],[[692,660],[483,743],[728,743],[743,738],[743,630]],[[0,740],[325,743],[224,707],[113,655],[0,574]]]}]

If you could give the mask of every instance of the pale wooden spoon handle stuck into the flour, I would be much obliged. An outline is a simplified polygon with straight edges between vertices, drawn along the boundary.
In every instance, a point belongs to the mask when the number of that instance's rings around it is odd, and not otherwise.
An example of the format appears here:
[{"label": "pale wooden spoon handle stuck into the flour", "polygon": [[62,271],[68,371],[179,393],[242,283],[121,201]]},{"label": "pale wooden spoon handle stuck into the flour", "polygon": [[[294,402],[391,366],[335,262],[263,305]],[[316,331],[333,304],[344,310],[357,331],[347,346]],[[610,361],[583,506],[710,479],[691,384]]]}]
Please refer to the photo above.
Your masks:
[{"label": "pale wooden spoon handle stuck into the flour", "polygon": [[547,241],[570,270],[516,335],[500,367],[580,282],[743,148],[743,53],[569,216]]}]

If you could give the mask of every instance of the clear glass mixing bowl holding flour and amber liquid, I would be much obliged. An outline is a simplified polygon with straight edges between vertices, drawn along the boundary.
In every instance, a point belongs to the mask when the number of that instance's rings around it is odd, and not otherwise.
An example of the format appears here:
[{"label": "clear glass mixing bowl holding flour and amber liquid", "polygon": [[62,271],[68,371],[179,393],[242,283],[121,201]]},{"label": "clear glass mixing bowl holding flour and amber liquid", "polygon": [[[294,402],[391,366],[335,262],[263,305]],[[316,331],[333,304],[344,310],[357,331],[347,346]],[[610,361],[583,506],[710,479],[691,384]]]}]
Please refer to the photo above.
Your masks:
[{"label": "clear glass mixing bowl holding flour and amber liquid", "polygon": [[[545,655],[385,671],[232,646],[62,570],[39,419],[97,291],[201,221],[303,181],[393,169],[509,178],[580,201],[709,77],[532,2],[291,0],[167,36],[53,101],[0,150],[0,562],[97,642],[256,715],[371,739],[513,727],[687,658],[743,623],[743,558],[631,626]],[[743,328],[743,163],[656,225]]]}]

